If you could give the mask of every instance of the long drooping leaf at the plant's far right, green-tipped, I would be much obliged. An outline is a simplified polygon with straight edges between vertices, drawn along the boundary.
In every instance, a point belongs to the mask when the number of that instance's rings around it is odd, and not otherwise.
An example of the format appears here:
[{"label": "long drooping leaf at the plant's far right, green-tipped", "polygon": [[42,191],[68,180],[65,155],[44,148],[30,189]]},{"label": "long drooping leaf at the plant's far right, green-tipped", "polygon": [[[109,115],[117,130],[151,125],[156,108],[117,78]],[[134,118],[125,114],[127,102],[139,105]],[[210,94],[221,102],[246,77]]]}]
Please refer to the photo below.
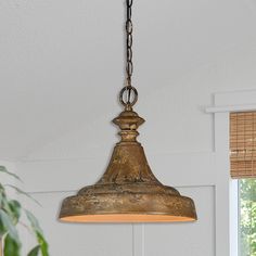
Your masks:
[{"label": "long drooping leaf at the plant's far right, green-tipped", "polygon": [[49,256],[48,253],[48,243],[43,236],[42,230],[39,226],[37,218],[29,212],[25,210],[27,219],[29,220],[31,228],[37,236],[37,242],[40,245],[40,251],[42,256]]}]

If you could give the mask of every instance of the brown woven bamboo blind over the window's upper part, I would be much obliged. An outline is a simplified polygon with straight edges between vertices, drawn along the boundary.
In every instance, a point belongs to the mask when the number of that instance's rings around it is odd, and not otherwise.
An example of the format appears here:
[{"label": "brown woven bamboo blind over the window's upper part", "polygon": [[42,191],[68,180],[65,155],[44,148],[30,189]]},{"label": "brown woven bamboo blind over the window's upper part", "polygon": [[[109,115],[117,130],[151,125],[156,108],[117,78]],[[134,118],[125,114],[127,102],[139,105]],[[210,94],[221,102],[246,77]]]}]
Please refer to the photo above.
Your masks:
[{"label": "brown woven bamboo blind over the window's upper part", "polygon": [[230,114],[230,166],[234,179],[256,178],[256,112]]}]

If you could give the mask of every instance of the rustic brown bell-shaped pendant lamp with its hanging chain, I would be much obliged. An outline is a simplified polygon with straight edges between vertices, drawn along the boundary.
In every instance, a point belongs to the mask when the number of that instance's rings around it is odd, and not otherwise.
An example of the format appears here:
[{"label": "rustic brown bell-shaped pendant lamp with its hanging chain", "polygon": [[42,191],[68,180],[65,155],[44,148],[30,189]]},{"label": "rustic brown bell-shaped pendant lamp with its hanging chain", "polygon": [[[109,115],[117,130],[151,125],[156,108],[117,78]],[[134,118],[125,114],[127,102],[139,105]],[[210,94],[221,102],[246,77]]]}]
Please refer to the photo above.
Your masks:
[{"label": "rustic brown bell-shaped pendant lamp with its hanging chain", "polygon": [[63,201],[60,219],[69,222],[193,221],[196,220],[193,201],[155,178],[137,141],[137,129],[144,119],[132,110],[138,100],[137,90],[131,86],[132,0],[126,0],[126,5],[127,84],[119,94],[125,110],[113,120],[120,128],[120,141],[103,177]]}]

